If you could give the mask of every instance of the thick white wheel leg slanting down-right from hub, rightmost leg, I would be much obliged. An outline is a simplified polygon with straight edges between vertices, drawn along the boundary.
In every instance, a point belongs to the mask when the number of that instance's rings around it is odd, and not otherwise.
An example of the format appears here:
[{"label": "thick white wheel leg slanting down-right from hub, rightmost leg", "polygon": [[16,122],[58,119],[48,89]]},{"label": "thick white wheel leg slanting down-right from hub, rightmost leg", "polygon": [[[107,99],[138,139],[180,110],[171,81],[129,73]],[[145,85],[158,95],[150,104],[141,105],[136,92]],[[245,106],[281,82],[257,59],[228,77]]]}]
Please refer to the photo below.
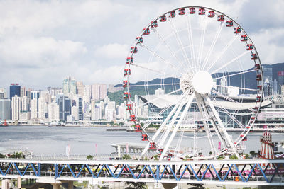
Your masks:
[{"label": "thick white wheel leg slanting down-right from hub, rightmost leg", "polygon": [[217,110],[215,109],[211,99],[207,95],[205,96],[205,99],[209,103],[209,106],[212,109],[212,112],[213,112],[215,118],[217,119],[219,126],[222,128],[222,132],[224,133],[224,135],[226,137],[226,142],[229,142],[229,145],[230,145],[231,149],[234,151],[234,154],[236,154],[236,156],[239,158],[239,154],[236,151],[236,147],[235,147],[231,137],[229,136],[228,132],[226,132],[224,124],[223,124],[221,118],[219,117],[219,114],[217,113]]}]

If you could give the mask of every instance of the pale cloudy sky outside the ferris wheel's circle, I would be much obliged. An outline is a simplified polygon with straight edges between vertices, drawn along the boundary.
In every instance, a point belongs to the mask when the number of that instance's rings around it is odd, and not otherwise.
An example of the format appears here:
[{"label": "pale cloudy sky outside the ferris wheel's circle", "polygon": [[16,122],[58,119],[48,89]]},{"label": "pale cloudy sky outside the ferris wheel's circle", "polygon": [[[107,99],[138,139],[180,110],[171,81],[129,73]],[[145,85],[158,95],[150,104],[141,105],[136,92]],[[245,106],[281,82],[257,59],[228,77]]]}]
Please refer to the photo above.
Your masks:
[{"label": "pale cloudy sky outside the ferris wheel's circle", "polygon": [[0,1],[0,88],[118,84],[129,47],[153,18],[180,6],[207,6],[238,22],[263,64],[284,62],[284,1]]}]

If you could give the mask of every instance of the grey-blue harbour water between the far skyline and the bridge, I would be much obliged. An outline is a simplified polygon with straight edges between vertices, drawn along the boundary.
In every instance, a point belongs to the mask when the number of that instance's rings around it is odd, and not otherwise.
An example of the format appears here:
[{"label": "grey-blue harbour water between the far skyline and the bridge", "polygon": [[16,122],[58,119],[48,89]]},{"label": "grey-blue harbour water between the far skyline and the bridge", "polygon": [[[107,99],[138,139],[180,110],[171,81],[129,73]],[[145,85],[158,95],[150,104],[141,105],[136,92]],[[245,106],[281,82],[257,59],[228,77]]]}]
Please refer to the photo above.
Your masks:
[{"label": "grey-blue harbour water between the far skyline and the bridge", "polygon": [[[236,138],[238,133],[229,133]],[[250,133],[244,142],[249,151],[258,151],[261,147],[259,138],[262,133]],[[204,134],[203,134],[204,135]],[[198,147],[203,154],[209,152],[209,142],[206,137],[198,140]],[[193,133],[185,133],[185,142],[182,147],[193,147]],[[272,133],[273,142],[284,139],[283,133]],[[217,142],[217,136],[214,136]],[[9,126],[0,127],[0,153],[5,151],[27,150],[36,155],[65,155],[67,145],[70,145],[70,154],[95,154],[96,145],[98,154],[115,152],[111,144],[128,142],[141,144],[141,133],[126,131],[107,131],[107,127],[48,127],[48,126]],[[145,144],[147,144],[145,142]],[[278,147],[278,151],[284,151]]]}]

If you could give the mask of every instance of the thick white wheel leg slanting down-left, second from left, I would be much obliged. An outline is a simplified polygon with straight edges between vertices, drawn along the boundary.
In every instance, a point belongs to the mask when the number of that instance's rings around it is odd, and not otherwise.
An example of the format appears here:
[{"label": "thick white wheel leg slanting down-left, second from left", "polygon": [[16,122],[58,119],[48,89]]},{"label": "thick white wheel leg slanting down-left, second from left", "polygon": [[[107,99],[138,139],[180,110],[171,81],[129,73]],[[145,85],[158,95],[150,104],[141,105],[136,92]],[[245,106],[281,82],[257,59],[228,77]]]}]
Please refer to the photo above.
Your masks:
[{"label": "thick white wheel leg slanting down-left, second from left", "polygon": [[165,144],[165,148],[163,150],[163,153],[160,155],[160,161],[163,160],[165,154],[168,151],[168,148],[170,147],[170,144],[173,141],[173,137],[175,137],[175,134],[177,133],[178,129],[180,128],[180,124],[182,123],[183,118],[185,118],[185,115],[187,114],[187,111],[190,108],[190,105],[192,104],[193,98],[195,98],[195,93],[192,93],[192,95],[190,96],[190,98],[187,101],[187,105],[185,106],[185,109],[182,112],[182,115],[180,115],[180,120],[178,120],[178,124],[175,125],[175,128],[172,132],[172,134],[170,135],[170,139],[168,140],[167,144]]}]

